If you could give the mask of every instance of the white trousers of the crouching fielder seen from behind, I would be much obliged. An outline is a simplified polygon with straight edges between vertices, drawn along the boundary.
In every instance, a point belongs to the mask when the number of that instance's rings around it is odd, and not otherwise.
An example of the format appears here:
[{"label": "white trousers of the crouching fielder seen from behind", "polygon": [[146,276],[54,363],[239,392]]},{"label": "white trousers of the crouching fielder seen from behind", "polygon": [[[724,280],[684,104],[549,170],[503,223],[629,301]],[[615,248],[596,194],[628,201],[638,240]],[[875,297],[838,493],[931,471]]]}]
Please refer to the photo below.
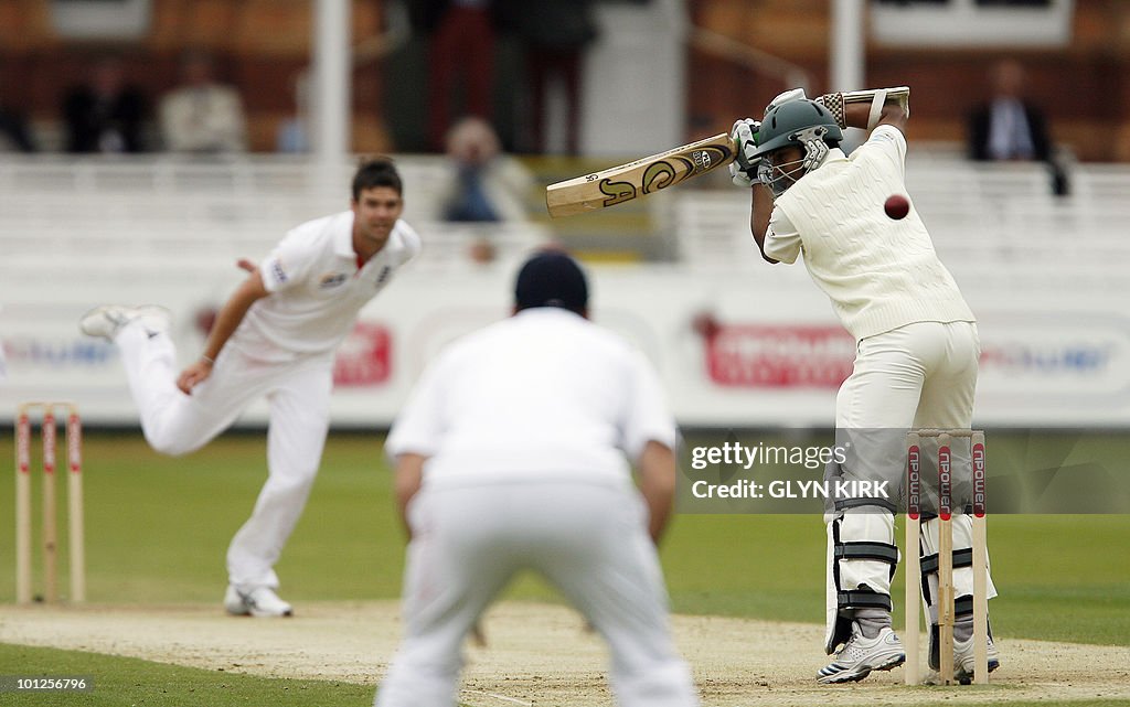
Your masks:
[{"label": "white trousers of the crouching fielder seen from behind", "polygon": [[[522,569],[541,574],[608,643],[620,707],[698,705],[634,488],[576,481],[425,487],[409,505],[405,637],[376,707],[452,707],[471,627]],[[580,630],[580,627],[579,627]]]}]

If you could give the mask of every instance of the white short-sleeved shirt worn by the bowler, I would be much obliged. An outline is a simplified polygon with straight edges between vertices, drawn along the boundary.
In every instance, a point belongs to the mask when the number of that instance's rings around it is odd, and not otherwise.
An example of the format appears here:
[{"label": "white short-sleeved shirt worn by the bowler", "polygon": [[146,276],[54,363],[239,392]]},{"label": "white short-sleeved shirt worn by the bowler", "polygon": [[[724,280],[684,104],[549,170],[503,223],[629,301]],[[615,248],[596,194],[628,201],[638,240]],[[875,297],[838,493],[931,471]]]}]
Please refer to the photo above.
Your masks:
[{"label": "white short-sleeved shirt worn by the bowler", "polygon": [[353,247],[353,211],[293,230],[259,265],[270,293],[247,311],[231,343],[266,361],[332,352],[357,314],[420,251],[420,238],[402,220],[363,268]]}]

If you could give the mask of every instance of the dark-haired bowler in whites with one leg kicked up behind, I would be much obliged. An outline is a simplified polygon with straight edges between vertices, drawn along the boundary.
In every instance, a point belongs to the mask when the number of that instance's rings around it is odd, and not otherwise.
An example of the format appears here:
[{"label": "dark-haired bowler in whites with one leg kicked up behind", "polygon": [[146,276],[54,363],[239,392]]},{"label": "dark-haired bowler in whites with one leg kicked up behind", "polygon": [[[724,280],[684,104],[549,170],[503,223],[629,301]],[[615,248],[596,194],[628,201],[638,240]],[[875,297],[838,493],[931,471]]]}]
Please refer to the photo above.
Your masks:
[{"label": "dark-haired bowler in whites with one leg kicked up behind", "polygon": [[275,592],[273,567],[321,462],[334,350],[362,307],[420,250],[419,236],[400,220],[402,189],[391,162],[364,163],[349,210],[298,226],[259,268],[241,261],[250,274],[180,377],[167,311],[107,305],[82,317],[84,333],[121,350],[146,440],[160,453],[192,452],[252,400],[270,403],[267,483],[227,552],[228,613],[292,613]]}]

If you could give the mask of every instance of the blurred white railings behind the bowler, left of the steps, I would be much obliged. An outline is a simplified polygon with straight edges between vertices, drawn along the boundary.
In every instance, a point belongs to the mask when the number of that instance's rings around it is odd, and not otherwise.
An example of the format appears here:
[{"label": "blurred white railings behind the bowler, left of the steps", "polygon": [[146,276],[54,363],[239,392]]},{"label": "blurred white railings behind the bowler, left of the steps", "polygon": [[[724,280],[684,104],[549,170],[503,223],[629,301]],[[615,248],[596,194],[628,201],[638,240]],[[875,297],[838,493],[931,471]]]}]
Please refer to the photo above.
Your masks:
[{"label": "blurred white railings behind the bowler, left of the steps", "polygon": [[[533,224],[453,225],[438,219],[442,157],[398,159],[405,219],[427,242],[421,262],[468,260],[488,239],[505,256],[548,239]],[[285,156],[194,162],[171,157],[0,162],[0,269],[115,271],[174,261],[191,273],[235,258],[261,258],[296,225],[349,206],[353,165],[325,169]]]}]

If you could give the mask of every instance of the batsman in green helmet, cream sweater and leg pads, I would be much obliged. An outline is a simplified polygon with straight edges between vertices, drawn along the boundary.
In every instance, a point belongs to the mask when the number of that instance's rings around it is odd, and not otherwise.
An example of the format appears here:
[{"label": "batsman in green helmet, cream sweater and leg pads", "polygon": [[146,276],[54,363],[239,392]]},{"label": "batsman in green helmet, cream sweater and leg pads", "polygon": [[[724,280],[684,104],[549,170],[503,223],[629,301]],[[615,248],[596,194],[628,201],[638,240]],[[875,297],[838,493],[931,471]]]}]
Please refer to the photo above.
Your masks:
[{"label": "batsman in green helmet, cream sweater and leg pads", "polygon": [[[877,91],[871,105],[845,105],[838,94],[809,101],[800,89],[786,91],[760,122],[734,123],[739,155],[730,171],[734,183],[753,187],[750,226],[762,256],[771,263],[801,256],[857,340],[854,369],[836,399],[837,443],[846,431],[873,446],[857,449],[829,475],[879,474],[901,488],[901,444],[907,429],[967,429],[972,424],[980,343],[973,313],[938,260],[918,212],[912,207],[899,219],[884,212],[888,197],[906,193],[903,129],[909,117],[903,101],[886,98]],[[872,131],[851,157],[838,148],[845,126]],[[825,518],[825,651],[843,648],[819,671],[820,682],[862,680],[904,660],[890,628],[890,578],[898,561],[895,512],[894,504],[875,499],[842,499]],[[967,553],[971,529],[970,516],[955,517],[955,551]],[[923,531],[920,552],[925,558],[938,551],[937,518],[924,523]],[[955,561],[959,569],[954,576],[959,679],[972,675],[974,663],[973,578],[970,566],[962,565]],[[935,569],[922,587],[933,626],[937,587]],[[996,595],[991,581],[988,591]],[[1000,664],[991,640],[989,661],[990,670]],[[930,664],[937,669],[935,651]]]}]

